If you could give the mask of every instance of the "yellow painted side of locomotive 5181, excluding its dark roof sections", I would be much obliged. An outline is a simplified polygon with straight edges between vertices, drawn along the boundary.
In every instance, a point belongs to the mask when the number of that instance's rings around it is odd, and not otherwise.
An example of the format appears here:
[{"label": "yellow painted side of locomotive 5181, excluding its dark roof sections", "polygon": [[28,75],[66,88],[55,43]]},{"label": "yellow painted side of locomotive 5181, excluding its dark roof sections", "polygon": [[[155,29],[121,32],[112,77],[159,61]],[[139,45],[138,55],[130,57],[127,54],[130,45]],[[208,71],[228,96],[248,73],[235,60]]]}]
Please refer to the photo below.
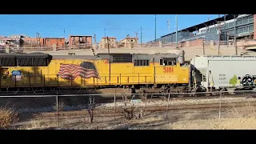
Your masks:
[{"label": "yellow painted side of locomotive 5181, excluding its dark roof sections", "polygon": [[133,62],[109,64],[103,59],[53,59],[48,66],[3,66],[0,83],[1,87],[189,83],[189,70],[179,64],[134,66]]}]

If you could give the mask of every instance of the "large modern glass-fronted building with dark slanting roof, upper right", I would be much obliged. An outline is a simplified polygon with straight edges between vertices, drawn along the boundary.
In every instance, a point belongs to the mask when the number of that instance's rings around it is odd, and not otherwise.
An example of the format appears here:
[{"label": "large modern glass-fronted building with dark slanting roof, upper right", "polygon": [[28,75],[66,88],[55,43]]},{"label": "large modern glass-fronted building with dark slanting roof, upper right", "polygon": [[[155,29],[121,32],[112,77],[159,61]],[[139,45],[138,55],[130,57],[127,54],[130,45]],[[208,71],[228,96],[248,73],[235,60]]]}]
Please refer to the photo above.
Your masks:
[{"label": "large modern glass-fronted building with dark slanting roof, upper right", "polygon": [[[235,23],[234,23],[235,22]],[[234,33],[235,31],[235,33]],[[206,41],[228,41],[234,39],[256,39],[256,14],[226,14],[195,26],[163,35],[157,42],[170,43],[205,39]],[[150,42],[155,42],[150,41]],[[149,43],[150,43],[149,42]]]}]

